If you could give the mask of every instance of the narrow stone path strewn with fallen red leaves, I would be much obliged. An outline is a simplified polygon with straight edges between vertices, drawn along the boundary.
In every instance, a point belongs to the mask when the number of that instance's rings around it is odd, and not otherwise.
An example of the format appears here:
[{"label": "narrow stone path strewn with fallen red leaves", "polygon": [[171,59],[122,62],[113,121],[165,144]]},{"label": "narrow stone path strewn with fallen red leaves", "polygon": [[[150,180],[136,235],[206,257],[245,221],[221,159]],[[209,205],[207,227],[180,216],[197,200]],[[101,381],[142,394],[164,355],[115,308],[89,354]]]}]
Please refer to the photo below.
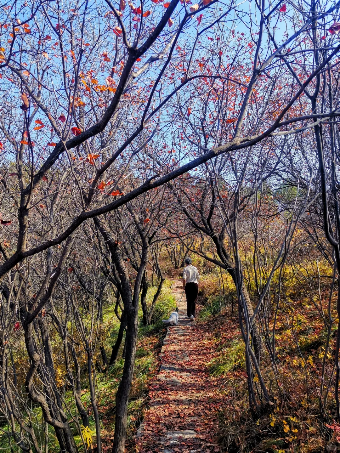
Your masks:
[{"label": "narrow stone path strewn with fallen red leaves", "polygon": [[223,396],[206,363],[214,339],[199,322],[187,319],[186,299],[178,283],[172,294],[179,308],[177,326],[168,327],[162,366],[150,388],[150,403],[136,434],[139,452],[219,451],[215,443]]}]

